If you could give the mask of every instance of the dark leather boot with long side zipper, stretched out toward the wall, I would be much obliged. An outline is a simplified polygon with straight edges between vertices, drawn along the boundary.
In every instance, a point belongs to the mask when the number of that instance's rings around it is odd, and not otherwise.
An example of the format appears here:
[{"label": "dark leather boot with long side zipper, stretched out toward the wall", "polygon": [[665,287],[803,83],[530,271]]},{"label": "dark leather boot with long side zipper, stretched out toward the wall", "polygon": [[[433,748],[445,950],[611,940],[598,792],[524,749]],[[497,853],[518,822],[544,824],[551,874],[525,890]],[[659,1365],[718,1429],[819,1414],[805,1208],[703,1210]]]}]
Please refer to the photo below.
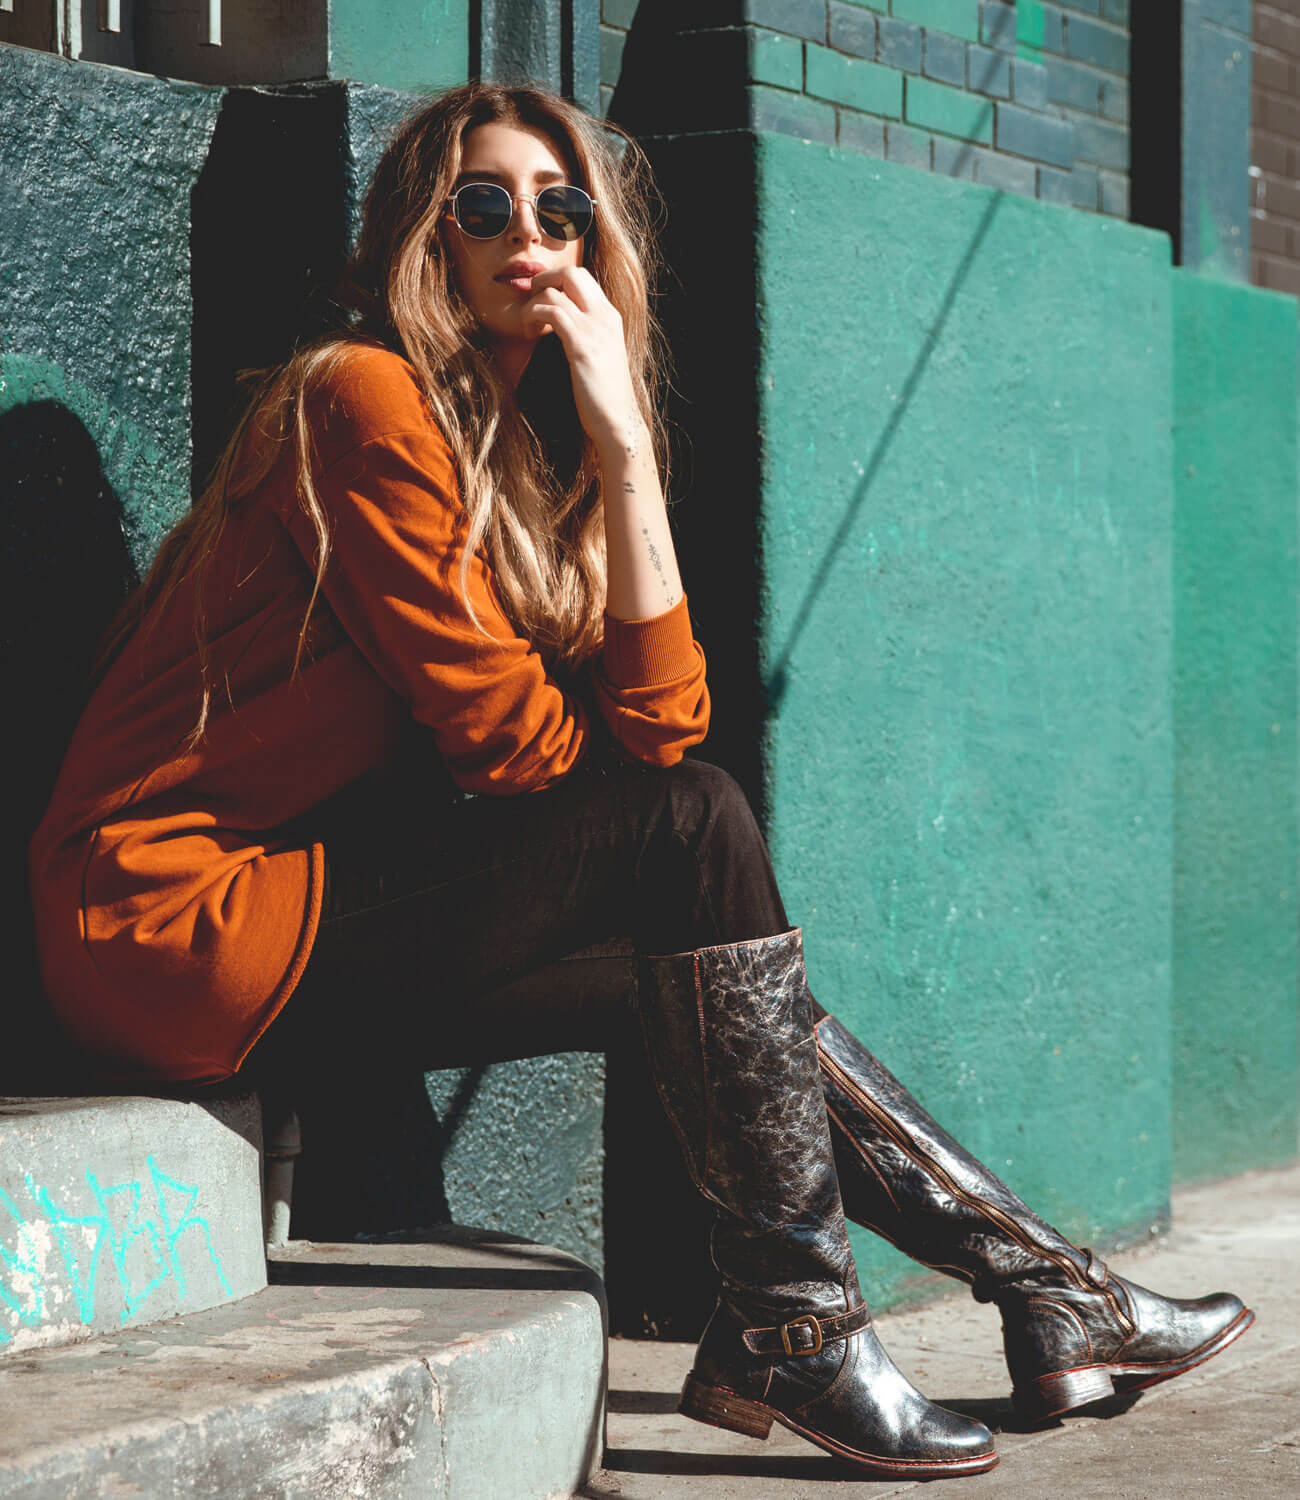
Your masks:
[{"label": "dark leather boot with long side zipper, stretched out toward the wall", "polygon": [[1221,1292],[1162,1298],[1044,1222],[832,1016],[817,1054],[844,1212],[1002,1312],[1017,1408],[1045,1420],[1180,1376],[1255,1320]]}]

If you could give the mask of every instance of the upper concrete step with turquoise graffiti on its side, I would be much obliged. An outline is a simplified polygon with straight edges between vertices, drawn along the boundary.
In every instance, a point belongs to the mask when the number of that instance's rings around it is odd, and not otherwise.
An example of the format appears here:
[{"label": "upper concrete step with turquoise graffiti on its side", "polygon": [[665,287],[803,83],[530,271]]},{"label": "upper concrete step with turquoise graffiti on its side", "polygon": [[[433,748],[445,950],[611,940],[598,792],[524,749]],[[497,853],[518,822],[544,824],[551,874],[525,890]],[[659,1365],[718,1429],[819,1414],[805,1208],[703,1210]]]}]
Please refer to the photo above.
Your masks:
[{"label": "upper concrete step with turquoise graffiti on its side", "polygon": [[256,1095],[0,1098],[0,1370],[265,1284]]}]

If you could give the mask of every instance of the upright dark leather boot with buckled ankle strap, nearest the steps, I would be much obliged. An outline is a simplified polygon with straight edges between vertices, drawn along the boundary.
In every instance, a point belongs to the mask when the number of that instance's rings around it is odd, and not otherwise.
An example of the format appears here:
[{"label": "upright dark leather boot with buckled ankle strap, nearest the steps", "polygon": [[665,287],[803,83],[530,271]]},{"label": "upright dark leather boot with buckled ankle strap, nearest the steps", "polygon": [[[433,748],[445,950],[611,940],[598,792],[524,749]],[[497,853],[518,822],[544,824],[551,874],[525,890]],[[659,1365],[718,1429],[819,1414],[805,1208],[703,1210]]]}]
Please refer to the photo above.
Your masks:
[{"label": "upright dark leather boot with buckled ankle strap, nearest the steps", "polygon": [[988,1428],[925,1400],[871,1328],[849,1248],[798,930],[646,958],[651,1072],[715,1206],[721,1293],[681,1410],[751,1437],[772,1420],[871,1473],[970,1474]]}]

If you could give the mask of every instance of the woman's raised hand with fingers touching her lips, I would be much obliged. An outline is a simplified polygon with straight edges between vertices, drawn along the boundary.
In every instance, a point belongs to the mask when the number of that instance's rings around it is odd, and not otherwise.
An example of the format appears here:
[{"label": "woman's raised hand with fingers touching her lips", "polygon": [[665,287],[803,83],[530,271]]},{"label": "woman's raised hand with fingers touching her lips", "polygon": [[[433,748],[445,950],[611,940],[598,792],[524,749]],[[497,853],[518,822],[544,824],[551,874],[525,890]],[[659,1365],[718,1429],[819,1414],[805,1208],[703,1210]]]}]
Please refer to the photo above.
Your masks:
[{"label": "woman's raised hand with fingers touching her lips", "polygon": [[622,318],[591,272],[565,266],[532,278],[525,309],[534,333],[553,330],[568,358],[573,399],[601,465],[648,447],[622,338]]}]

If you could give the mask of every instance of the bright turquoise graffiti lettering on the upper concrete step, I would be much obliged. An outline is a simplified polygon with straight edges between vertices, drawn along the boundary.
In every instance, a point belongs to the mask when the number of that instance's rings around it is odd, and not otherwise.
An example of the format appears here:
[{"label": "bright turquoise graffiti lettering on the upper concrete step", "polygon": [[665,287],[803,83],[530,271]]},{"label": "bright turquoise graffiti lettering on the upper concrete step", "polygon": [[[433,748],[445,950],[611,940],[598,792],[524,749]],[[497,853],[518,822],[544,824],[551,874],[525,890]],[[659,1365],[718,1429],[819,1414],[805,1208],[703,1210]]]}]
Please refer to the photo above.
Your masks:
[{"label": "bright turquoise graffiti lettering on the upper concrete step", "polygon": [[[187,1182],[177,1182],[157,1166],[153,1156],[145,1158],[148,1184],[117,1182],[103,1186],[99,1178],[87,1168],[85,1185],[97,1212],[70,1214],[54,1202],[49,1190],[36,1184],[28,1173],[24,1179],[31,1202],[39,1209],[39,1218],[28,1218],[19,1204],[0,1188],[0,1214],[13,1221],[13,1250],[0,1244],[0,1320],[4,1310],[16,1316],[22,1328],[39,1328],[49,1304],[46,1275],[42,1269],[37,1248],[40,1221],[49,1227],[58,1256],[63,1262],[67,1287],[76,1304],[76,1316],[82,1323],[94,1320],[94,1304],[99,1292],[99,1270],[105,1258],[111,1260],[121,1288],[121,1323],[130,1318],[165,1282],[175,1282],[177,1296],[184,1298],[189,1281],[180,1256],[178,1242],[183,1234],[201,1236],[204,1251],[216,1272],[217,1282],[226,1296],[234,1296],[220,1257],[213,1245],[208,1222],[195,1214],[199,1190]],[[145,1186],[153,1190],[153,1203],[145,1203]],[[168,1204],[168,1194],[172,1202]],[[142,1206],[144,1204],[144,1206]],[[156,1208],[154,1208],[156,1204]],[[124,1221],[120,1227],[114,1220]],[[0,1218],[3,1227],[3,1218]],[[73,1238],[81,1232],[78,1245]],[[85,1262],[85,1240],[93,1236],[90,1258]],[[144,1278],[132,1275],[127,1252],[138,1246],[145,1251],[148,1270]],[[79,1254],[78,1254],[79,1251]],[[12,1342],[13,1335],[0,1326],[0,1348]]]}]

